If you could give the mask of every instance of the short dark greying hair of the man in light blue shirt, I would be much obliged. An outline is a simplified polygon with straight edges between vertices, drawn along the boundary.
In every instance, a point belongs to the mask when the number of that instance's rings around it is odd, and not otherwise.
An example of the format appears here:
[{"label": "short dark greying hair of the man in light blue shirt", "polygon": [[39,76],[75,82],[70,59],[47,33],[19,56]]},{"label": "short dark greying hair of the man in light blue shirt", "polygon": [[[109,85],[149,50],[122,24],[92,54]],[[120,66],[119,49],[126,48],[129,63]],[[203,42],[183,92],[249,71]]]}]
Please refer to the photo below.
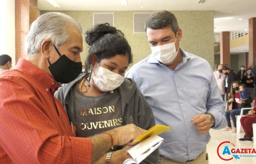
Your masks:
[{"label": "short dark greying hair of the man in light blue shirt", "polygon": [[175,15],[169,11],[157,11],[150,15],[145,22],[145,32],[147,28],[151,29],[163,29],[165,27],[171,27],[173,32],[177,33],[179,27],[178,21]]}]

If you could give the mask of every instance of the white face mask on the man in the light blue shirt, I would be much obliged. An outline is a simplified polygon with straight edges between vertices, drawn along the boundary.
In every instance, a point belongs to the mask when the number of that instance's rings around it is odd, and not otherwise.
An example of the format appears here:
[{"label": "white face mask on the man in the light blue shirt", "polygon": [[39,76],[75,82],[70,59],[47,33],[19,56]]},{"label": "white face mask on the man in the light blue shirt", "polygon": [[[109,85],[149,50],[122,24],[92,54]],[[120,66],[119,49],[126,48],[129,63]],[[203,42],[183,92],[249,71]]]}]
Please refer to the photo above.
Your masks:
[{"label": "white face mask on the man in the light blue shirt", "polygon": [[176,42],[177,36],[178,35],[176,33],[176,38],[173,43],[169,43],[169,44],[161,45],[161,46],[150,47],[153,57],[156,58],[159,62],[161,62],[163,64],[172,63],[179,52],[179,48],[178,48],[177,52],[176,52],[176,48],[175,48],[175,42]]}]

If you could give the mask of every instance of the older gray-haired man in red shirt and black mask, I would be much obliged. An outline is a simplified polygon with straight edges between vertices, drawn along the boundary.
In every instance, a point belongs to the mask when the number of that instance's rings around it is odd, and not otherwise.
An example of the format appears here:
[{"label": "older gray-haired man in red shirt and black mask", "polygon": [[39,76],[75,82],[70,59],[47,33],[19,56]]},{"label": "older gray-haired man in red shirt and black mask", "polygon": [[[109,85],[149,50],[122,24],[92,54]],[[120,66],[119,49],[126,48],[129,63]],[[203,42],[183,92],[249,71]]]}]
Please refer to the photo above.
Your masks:
[{"label": "older gray-haired man in red shirt and black mask", "polygon": [[[70,16],[51,12],[32,23],[27,59],[0,75],[0,163],[95,163],[111,146],[133,145],[144,133],[126,125],[90,138],[75,137],[54,92],[81,73],[82,49],[81,24]],[[117,153],[127,156],[125,150]]]}]

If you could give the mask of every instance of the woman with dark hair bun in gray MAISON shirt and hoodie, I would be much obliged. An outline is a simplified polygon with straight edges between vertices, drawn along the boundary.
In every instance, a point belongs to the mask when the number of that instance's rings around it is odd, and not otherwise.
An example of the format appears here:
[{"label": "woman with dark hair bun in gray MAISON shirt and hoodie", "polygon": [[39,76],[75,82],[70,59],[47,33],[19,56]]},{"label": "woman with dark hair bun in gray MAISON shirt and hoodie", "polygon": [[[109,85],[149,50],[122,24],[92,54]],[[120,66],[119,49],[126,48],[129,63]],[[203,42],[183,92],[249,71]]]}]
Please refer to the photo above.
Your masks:
[{"label": "woman with dark hair bun in gray MAISON shirt and hoodie", "polygon": [[[155,125],[148,102],[132,79],[124,73],[133,57],[124,34],[108,23],[86,31],[90,46],[85,61],[85,73],[64,84],[55,96],[64,104],[70,123],[76,126],[77,137],[95,134],[135,124],[142,129]],[[125,134],[123,134],[125,136]],[[123,163],[131,158],[125,146],[114,146],[97,163]],[[158,149],[141,163],[157,163]]]}]

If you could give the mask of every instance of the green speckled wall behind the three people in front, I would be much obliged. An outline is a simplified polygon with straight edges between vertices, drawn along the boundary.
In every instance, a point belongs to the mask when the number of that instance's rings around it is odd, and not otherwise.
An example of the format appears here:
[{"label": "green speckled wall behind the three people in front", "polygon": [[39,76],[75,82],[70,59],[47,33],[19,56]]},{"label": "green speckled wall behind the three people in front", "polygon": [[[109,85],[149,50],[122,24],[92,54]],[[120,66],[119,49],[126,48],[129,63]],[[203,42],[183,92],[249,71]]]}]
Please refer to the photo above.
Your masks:
[{"label": "green speckled wall behind the three people in front", "polygon": [[[41,11],[46,13],[50,11]],[[63,12],[79,21],[84,32],[93,27],[93,13],[99,11],[58,11]],[[106,12],[106,11],[104,11]],[[114,13],[114,26],[125,34],[134,56],[134,63],[147,57],[150,47],[145,33],[133,33],[133,13],[154,11],[108,11]],[[214,11],[171,11],[177,17],[182,29],[181,48],[185,51],[205,58],[214,67]],[[84,37],[84,35],[83,35]],[[83,43],[84,51],[81,60],[84,63],[88,46]]]}]

